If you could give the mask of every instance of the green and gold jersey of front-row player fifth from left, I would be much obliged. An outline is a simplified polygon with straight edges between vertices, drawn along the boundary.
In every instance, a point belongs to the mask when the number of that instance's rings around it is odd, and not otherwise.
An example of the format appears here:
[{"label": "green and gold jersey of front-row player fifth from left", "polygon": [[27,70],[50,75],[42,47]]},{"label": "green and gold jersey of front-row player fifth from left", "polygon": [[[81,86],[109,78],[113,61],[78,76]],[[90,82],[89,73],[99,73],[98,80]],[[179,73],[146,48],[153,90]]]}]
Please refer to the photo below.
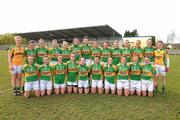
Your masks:
[{"label": "green and gold jersey of front-row player fifth from left", "polygon": [[78,80],[88,80],[88,67],[86,65],[78,65]]}]

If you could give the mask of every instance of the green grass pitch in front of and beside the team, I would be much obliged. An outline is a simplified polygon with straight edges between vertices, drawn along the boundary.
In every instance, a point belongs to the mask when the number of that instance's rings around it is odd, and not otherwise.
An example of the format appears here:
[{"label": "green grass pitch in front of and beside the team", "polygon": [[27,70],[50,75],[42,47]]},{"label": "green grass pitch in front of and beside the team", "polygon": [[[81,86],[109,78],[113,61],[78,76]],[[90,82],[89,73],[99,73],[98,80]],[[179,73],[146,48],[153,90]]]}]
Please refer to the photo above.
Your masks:
[{"label": "green grass pitch in front of and beside the team", "polygon": [[171,56],[167,75],[167,96],[153,98],[117,95],[32,96],[25,99],[11,93],[7,52],[0,51],[0,119],[119,120],[180,119],[180,56]]}]

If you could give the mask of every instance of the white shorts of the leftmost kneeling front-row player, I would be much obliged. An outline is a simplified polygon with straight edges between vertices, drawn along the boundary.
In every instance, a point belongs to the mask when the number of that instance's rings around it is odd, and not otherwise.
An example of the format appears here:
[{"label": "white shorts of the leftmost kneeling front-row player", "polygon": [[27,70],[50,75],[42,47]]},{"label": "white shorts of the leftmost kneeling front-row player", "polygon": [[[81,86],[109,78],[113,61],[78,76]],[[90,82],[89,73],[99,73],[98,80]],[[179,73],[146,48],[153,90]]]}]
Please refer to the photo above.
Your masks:
[{"label": "white shorts of the leftmost kneeling front-row player", "polygon": [[39,90],[39,81],[25,82],[24,83],[24,90],[25,91]]}]

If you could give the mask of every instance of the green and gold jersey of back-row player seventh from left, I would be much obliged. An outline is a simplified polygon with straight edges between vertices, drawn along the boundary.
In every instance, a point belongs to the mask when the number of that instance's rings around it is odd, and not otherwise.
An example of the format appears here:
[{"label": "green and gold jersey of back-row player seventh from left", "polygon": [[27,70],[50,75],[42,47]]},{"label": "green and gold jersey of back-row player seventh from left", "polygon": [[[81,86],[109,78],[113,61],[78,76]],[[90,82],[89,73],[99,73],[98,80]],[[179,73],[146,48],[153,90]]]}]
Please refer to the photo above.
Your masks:
[{"label": "green and gold jersey of back-row player seventh from left", "polygon": [[83,44],[81,46],[81,50],[82,50],[82,57],[84,57],[85,59],[91,58],[91,46],[90,45]]}]

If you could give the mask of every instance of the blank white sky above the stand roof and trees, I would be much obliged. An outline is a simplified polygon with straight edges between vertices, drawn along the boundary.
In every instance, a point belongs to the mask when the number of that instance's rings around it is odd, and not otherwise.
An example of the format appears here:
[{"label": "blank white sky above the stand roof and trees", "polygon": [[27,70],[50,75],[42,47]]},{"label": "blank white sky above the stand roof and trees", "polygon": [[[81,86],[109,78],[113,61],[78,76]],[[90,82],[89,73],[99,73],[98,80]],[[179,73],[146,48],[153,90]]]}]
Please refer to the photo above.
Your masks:
[{"label": "blank white sky above the stand roof and trees", "polygon": [[[0,34],[108,24],[180,39],[180,0],[1,0]],[[179,40],[180,41],[180,40]]]}]

